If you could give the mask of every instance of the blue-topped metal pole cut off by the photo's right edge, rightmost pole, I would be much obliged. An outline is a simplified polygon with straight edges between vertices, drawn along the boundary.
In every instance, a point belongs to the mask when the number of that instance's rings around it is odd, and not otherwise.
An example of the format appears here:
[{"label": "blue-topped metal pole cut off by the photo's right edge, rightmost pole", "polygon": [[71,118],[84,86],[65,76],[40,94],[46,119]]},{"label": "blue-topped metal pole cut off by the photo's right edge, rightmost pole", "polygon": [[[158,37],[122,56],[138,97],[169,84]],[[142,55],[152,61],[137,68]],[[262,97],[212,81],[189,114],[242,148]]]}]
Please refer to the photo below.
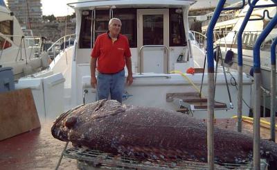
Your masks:
[{"label": "blue-topped metal pole cut off by the photo's right edge, rightmost pole", "polygon": [[275,112],[276,112],[276,44],[277,37],[271,44],[271,85],[270,85],[270,138],[275,142]]}]

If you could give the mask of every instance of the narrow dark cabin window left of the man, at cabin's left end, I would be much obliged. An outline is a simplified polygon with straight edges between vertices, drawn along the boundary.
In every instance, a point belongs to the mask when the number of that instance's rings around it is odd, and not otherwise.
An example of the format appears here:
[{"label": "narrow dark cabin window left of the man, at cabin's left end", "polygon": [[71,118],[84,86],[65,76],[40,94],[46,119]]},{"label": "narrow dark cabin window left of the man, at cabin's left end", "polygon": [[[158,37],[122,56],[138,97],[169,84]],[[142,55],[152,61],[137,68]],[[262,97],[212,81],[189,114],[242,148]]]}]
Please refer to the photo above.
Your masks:
[{"label": "narrow dark cabin window left of the man, at cabin's left end", "polygon": [[80,49],[91,48],[91,21],[91,10],[83,10],[80,31]]}]

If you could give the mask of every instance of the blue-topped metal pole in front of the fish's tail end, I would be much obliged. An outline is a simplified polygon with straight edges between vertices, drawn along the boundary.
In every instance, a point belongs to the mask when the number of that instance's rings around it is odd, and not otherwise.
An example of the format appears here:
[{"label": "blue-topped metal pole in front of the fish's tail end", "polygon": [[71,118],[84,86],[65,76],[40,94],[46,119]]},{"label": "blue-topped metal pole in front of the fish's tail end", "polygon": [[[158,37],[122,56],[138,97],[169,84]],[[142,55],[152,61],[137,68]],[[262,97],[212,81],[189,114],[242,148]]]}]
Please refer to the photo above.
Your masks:
[{"label": "blue-topped metal pole in front of the fish's tail end", "polygon": [[260,74],[260,46],[265,40],[267,35],[277,24],[277,14],[273,19],[267,24],[264,31],[258,37],[256,43],[253,46],[253,68],[254,68],[254,126],[253,126],[253,169],[260,169],[260,84],[261,84],[261,74]]}]

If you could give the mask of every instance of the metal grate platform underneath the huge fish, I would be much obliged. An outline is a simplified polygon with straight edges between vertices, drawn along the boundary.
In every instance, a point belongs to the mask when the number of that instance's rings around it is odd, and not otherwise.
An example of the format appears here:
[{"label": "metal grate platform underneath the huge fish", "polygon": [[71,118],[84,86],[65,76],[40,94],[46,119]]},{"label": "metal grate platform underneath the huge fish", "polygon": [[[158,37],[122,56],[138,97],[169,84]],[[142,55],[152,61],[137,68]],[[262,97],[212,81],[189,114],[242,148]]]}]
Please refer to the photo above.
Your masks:
[{"label": "metal grate platform underneath the huge fish", "polygon": [[[86,162],[87,166],[110,167],[111,169],[208,169],[208,164],[193,161],[139,161],[120,155],[111,155],[89,148],[68,148],[62,153],[64,157]],[[266,162],[264,162],[266,164]],[[215,164],[215,169],[252,169],[252,164]]]}]

